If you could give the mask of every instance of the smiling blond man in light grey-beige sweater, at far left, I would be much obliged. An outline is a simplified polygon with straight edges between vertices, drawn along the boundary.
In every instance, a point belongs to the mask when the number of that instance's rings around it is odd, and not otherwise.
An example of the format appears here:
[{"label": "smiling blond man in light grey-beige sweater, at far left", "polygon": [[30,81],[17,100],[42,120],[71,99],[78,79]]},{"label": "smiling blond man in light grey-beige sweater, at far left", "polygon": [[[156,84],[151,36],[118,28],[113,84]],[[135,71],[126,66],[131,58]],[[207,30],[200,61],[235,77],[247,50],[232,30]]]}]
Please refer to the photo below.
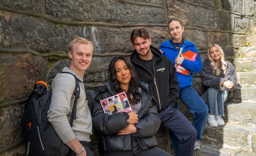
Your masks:
[{"label": "smiling blond man in light grey-beige sweater, at far left", "polygon": [[94,156],[90,149],[92,135],[92,118],[84,87],[84,72],[92,61],[93,44],[85,38],[76,38],[68,46],[70,57],[69,68],[62,72],[70,72],[79,79],[80,98],[76,107],[76,120],[70,126],[76,81],[72,74],[58,73],[52,81],[52,99],[48,111],[48,120],[60,139],[70,148],[67,156]]}]

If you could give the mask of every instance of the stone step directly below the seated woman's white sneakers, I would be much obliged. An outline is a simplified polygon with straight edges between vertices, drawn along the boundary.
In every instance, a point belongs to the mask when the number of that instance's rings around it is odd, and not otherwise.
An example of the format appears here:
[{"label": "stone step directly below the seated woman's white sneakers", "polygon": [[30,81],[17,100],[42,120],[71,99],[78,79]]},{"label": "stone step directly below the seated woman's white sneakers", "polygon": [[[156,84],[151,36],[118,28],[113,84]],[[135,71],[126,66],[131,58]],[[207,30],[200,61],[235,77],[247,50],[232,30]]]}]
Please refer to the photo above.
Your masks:
[{"label": "stone step directly below the seated woman's white sneakers", "polygon": [[226,148],[256,152],[255,124],[226,122],[224,126],[213,128],[207,123],[202,137],[203,140],[222,145]]}]

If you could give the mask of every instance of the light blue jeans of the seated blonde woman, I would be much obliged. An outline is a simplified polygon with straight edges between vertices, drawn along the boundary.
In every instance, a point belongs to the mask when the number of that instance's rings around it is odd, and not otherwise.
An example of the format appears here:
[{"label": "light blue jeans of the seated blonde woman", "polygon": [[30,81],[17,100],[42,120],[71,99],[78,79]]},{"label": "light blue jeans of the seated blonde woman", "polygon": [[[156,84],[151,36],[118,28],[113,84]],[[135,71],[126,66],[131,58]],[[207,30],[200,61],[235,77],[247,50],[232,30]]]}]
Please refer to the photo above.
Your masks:
[{"label": "light blue jeans of the seated blonde woman", "polygon": [[209,114],[224,116],[224,102],[228,100],[228,90],[220,91],[210,87],[201,95],[201,98],[209,104]]}]

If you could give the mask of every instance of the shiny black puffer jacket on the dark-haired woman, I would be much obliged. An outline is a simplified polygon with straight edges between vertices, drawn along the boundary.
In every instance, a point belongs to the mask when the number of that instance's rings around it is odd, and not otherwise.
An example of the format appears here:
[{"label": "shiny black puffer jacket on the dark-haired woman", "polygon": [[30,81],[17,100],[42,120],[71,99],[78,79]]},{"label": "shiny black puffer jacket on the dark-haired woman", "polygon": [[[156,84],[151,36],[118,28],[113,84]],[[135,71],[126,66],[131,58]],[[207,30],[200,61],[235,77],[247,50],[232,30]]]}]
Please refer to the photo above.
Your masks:
[{"label": "shiny black puffer jacket on the dark-haired woman", "polygon": [[92,102],[92,126],[97,133],[101,134],[98,147],[100,154],[107,151],[134,150],[139,147],[146,150],[158,146],[155,134],[161,120],[156,106],[152,103],[154,98],[152,98],[150,85],[139,82],[139,87],[142,89],[142,102],[138,114],[139,122],[134,124],[137,132],[127,135],[118,135],[117,132],[128,125],[129,115],[124,112],[104,114],[100,105],[100,100],[118,94],[113,91],[112,86],[111,82],[107,82],[105,87],[97,88],[96,91],[100,93]]}]

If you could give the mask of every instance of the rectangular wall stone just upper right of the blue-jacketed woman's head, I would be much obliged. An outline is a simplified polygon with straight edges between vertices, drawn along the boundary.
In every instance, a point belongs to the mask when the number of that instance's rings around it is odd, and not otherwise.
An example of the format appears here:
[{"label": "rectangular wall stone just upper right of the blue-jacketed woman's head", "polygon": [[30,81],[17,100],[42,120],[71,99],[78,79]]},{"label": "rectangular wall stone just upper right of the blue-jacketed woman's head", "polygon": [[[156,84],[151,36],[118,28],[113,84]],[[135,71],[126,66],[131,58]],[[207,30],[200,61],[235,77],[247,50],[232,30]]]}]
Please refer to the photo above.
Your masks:
[{"label": "rectangular wall stone just upper right of the blue-jacketed woman's head", "polygon": [[217,28],[217,12],[202,8],[200,6],[191,7],[191,26],[199,28],[216,29]]}]

